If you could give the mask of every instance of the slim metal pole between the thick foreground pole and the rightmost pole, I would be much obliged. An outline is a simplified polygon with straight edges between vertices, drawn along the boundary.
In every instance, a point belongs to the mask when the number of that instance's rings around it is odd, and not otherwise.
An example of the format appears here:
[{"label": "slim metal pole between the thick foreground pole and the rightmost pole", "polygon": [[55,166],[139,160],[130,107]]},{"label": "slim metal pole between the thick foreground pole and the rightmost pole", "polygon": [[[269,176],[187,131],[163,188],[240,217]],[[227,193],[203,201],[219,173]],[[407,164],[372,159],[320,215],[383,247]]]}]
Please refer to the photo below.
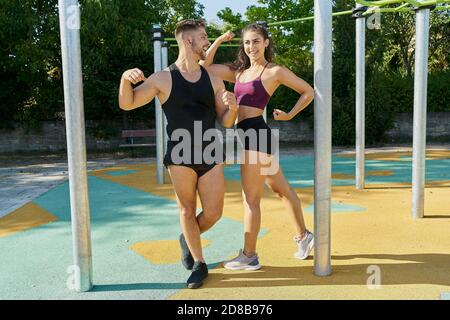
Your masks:
[{"label": "slim metal pole between the thick foreground pole and the rightmost pole", "polygon": [[[357,10],[364,8],[356,4]],[[356,188],[364,189],[364,149],[365,149],[365,30],[366,18],[357,14],[356,18]]]}]

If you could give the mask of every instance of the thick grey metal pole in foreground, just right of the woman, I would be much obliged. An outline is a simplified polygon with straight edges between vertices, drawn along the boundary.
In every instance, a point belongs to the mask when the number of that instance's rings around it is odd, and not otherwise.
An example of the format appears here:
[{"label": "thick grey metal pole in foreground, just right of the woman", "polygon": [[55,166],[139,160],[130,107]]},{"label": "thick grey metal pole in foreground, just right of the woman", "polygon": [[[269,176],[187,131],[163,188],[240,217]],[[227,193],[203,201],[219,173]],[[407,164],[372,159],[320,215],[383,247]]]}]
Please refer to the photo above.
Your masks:
[{"label": "thick grey metal pole in foreground, just right of the woman", "polygon": [[314,274],[331,274],[332,1],[314,0]]}]

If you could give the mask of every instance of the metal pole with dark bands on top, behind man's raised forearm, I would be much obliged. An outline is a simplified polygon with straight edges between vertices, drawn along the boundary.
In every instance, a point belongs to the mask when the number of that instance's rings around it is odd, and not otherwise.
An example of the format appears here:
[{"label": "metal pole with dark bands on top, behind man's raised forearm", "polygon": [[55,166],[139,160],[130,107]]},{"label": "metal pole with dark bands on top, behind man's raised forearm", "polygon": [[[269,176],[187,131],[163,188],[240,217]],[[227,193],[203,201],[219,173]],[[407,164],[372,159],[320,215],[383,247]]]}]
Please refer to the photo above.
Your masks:
[{"label": "metal pole with dark bands on top, behind man's raised forearm", "polygon": [[[161,26],[153,25],[153,56],[154,56],[154,72],[161,70]],[[156,122],[156,181],[158,184],[164,183],[164,147],[163,147],[163,114],[161,103],[155,98],[155,122]]]}]

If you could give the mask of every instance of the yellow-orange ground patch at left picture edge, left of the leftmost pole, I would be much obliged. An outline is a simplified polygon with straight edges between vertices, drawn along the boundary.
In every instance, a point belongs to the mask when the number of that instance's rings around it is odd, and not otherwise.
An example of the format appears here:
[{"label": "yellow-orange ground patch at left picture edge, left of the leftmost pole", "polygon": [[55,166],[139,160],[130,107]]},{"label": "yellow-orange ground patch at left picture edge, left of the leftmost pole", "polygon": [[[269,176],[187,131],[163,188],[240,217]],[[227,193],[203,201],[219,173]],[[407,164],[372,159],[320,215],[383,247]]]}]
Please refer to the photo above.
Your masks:
[{"label": "yellow-orange ground patch at left picture edge, left of the leftmost pole", "polygon": [[58,220],[40,206],[29,202],[7,216],[0,218],[0,237],[25,231]]}]

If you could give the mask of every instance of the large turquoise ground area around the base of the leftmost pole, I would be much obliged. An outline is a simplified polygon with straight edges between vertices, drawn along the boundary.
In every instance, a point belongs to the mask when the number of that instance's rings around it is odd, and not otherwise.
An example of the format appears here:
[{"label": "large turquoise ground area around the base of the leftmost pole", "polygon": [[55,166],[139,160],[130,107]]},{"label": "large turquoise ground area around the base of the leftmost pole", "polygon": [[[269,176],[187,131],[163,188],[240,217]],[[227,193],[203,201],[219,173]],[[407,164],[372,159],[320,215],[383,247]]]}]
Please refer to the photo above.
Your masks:
[{"label": "large turquoise ground area around the base of the leftmost pole", "polygon": [[[176,203],[106,179],[88,180],[93,291],[77,294],[66,289],[66,270],[72,264],[66,182],[34,201],[59,221],[0,238],[0,248],[8,248],[0,259],[0,298],[165,299],[185,288],[189,271],[181,263],[152,264],[129,249],[137,242],[177,239]],[[211,241],[204,254],[214,267],[242,246],[243,226],[224,217],[202,236]]]}]

